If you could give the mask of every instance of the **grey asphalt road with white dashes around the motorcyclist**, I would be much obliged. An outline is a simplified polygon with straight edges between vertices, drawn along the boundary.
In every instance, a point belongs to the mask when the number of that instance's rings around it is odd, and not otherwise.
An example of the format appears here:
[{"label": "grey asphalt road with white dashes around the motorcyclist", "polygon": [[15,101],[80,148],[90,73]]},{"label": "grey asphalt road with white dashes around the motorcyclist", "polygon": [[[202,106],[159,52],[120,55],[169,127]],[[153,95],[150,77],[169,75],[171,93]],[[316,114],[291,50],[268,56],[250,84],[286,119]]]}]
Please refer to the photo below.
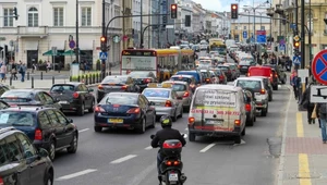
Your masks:
[{"label": "grey asphalt road with white dashes around the motorcyclist", "polygon": [[[274,91],[266,118],[257,118],[253,127],[246,127],[241,145],[229,138],[201,137],[187,140],[182,151],[186,185],[272,185],[277,176],[278,158],[274,158],[268,138],[278,138],[280,124],[289,97],[281,86]],[[157,149],[149,147],[152,134],[132,131],[105,131],[95,133],[93,114],[69,115],[80,131],[78,150],[75,155],[58,153],[53,162],[56,185],[155,185]],[[173,127],[187,133],[187,113],[173,123]],[[278,147],[277,147],[278,148]],[[277,149],[278,150],[278,149]],[[275,153],[276,155],[276,153]]]}]

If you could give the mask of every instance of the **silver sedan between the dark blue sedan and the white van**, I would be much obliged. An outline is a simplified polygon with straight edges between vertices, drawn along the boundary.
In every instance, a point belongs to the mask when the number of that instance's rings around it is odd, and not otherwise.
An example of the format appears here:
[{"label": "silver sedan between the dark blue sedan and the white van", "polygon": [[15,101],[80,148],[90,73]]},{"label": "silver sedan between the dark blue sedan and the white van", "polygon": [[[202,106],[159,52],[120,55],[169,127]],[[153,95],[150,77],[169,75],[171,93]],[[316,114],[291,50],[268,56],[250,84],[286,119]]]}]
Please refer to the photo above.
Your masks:
[{"label": "silver sedan between the dark blue sedan and the white van", "polygon": [[175,122],[179,116],[183,116],[183,103],[181,101],[183,98],[178,96],[171,84],[150,83],[142,95],[154,102],[157,119],[161,115],[170,115]]}]

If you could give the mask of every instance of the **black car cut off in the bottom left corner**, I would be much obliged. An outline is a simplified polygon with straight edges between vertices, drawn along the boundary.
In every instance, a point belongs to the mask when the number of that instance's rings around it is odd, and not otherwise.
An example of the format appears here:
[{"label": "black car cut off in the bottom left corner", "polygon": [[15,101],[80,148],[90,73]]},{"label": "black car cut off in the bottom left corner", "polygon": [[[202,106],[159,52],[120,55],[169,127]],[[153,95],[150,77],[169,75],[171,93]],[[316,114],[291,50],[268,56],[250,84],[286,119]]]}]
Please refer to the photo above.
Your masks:
[{"label": "black car cut off in the bottom left corner", "polygon": [[47,150],[36,149],[14,127],[0,128],[0,184],[53,184],[55,170]]}]

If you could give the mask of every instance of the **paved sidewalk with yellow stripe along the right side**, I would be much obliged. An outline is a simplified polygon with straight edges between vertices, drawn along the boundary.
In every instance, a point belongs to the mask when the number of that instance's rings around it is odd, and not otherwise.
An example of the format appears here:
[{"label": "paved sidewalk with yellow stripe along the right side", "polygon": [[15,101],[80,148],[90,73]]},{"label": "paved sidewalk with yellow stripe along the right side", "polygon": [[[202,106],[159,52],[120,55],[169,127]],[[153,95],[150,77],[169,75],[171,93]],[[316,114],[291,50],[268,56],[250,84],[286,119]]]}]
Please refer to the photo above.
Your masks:
[{"label": "paved sidewalk with yellow stripe along the right side", "polygon": [[291,91],[283,127],[278,185],[327,185],[327,145],[318,120],[307,124],[306,111],[299,112]]}]

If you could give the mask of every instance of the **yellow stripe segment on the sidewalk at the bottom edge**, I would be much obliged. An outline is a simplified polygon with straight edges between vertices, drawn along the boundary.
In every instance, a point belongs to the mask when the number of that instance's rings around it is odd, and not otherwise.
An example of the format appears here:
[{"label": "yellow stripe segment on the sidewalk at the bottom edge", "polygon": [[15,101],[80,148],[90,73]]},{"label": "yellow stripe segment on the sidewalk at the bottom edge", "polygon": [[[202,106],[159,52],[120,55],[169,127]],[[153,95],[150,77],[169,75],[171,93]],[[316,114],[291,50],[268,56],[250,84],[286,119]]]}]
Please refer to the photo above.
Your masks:
[{"label": "yellow stripe segment on the sidewalk at the bottom edge", "polygon": [[299,178],[300,185],[312,185],[306,153],[299,153]]}]

